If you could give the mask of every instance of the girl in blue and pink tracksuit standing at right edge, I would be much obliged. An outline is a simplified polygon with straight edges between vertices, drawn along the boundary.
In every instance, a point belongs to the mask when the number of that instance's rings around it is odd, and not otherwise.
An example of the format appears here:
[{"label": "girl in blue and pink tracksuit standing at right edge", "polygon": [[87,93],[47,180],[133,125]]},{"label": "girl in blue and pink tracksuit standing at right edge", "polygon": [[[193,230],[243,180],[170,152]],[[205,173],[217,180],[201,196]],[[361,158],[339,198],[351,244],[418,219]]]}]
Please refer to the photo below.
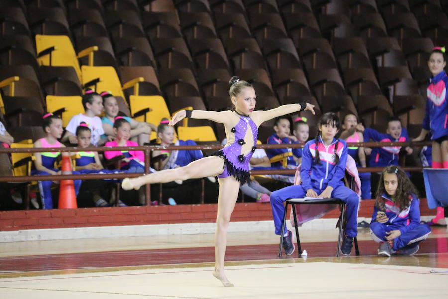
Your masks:
[{"label": "girl in blue and pink tracksuit standing at right edge", "polygon": [[[428,60],[428,68],[433,75],[426,89],[426,111],[423,118],[422,131],[413,141],[422,141],[431,133],[432,168],[448,168],[448,76],[444,71],[447,62],[445,47],[435,47]],[[447,226],[444,208],[438,207],[436,217],[429,225]]]}]

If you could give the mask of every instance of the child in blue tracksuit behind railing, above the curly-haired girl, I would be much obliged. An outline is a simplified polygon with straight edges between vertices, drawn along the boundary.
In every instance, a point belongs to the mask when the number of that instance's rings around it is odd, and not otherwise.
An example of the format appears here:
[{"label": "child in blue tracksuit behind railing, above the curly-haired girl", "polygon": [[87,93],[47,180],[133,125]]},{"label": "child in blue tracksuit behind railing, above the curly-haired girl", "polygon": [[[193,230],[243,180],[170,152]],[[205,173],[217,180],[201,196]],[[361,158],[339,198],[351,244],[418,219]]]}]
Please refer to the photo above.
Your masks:
[{"label": "child in blue tracksuit behind railing, above the curly-haired girl", "polygon": [[[364,141],[368,142],[370,139],[374,141],[391,142],[399,141],[405,142],[409,140],[408,131],[401,127],[400,119],[397,117],[389,118],[387,122],[387,133],[380,133],[372,128],[365,128]],[[398,154],[401,146],[396,147],[375,147],[370,154],[370,167],[385,167],[389,165],[398,166]],[[408,154],[412,153],[412,148],[406,147]]]}]

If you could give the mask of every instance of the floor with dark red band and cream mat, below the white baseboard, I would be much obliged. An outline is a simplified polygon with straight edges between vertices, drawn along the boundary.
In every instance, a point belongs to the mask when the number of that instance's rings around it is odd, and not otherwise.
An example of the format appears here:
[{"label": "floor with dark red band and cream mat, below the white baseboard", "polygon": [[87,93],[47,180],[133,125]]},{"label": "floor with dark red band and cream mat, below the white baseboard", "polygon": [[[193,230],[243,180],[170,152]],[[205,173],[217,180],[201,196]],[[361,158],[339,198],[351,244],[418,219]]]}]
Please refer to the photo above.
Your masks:
[{"label": "floor with dark red band and cream mat, below the white baseboard", "polygon": [[[231,233],[225,266],[235,288],[210,275],[211,234],[3,243],[0,298],[447,298],[447,237],[433,228],[416,255],[385,258],[359,229],[361,255],[336,258],[336,230],[303,231],[307,257],[278,258],[273,233]],[[399,286],[388,290],[386,279]]]}]

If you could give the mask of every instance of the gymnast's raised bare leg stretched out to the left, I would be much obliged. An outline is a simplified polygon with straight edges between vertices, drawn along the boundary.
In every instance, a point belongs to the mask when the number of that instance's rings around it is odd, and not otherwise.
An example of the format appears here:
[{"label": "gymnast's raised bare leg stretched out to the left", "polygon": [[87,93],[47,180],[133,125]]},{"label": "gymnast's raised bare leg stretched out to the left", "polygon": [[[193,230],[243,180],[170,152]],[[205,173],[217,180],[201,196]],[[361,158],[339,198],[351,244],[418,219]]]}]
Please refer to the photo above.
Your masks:
[{"label": "gymnast's raised bare leg stretched out to the left", "polygon": [[[191,162],[187,166],[162,170],[137,178],[125,178],[121,183],[124,190],[138,190],[142,185],[154,183],[167,183],[175,180],[187,180],[216,176],[223,172],[224,159],[218,156],[210,156]],[[239,188],[236,188],[237,190]]]}]

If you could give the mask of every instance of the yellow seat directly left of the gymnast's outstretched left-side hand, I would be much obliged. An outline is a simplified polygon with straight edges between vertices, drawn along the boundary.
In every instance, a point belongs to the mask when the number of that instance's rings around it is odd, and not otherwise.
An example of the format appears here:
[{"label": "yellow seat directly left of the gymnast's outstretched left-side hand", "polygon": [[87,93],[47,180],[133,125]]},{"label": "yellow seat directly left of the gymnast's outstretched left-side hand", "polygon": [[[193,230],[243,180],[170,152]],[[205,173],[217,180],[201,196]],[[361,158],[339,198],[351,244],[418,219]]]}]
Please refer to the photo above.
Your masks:
[{"label": "yellow seat directly left of the gymnast's outstretched left-side hand", "polygon": [[[170,112],[166,106],[165,99],[161,96],[130,96],[129,102],[131,115],[150,108],[150,111],[146,112],[146,115],[135,117],[137,121],[146,121],[158,126],[161,119],[170,119]],[[151,132],[151,139],[155,138],[157,138],[157,133]]]}]

